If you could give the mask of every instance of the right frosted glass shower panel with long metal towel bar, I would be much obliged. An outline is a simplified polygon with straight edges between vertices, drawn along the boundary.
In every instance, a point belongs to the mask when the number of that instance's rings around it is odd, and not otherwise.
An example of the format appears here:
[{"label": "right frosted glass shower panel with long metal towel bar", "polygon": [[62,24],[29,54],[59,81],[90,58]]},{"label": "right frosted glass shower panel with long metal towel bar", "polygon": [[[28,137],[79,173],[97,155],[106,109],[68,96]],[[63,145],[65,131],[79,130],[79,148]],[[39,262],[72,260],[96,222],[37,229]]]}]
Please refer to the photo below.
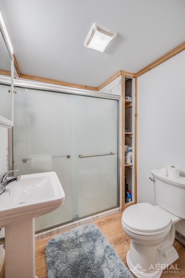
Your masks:
[{"label": "right frosted glass shower panel with long metal towel bar", "polygon": [[[118,101],[72,96],[73,218],[118,205]],[[93,156],[110,154],[105,156]],[[79,158],[79,155],[90,156]],[[91,156],[92,155],[92,156]]]}]

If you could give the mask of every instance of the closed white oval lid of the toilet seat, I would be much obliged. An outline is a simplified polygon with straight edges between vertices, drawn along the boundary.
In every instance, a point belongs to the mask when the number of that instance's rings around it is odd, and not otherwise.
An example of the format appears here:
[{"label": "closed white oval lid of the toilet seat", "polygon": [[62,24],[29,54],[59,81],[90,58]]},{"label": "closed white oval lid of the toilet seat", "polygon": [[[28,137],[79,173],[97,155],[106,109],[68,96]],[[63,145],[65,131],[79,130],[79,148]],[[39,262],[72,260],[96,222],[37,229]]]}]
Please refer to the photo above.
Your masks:
[{"label": "closed white oval lid of the toilet seat", "polygon": [[122,221],[135,231],[157,232],[171,224],[171,217],[149,203],[139,203],[125,209]]}]

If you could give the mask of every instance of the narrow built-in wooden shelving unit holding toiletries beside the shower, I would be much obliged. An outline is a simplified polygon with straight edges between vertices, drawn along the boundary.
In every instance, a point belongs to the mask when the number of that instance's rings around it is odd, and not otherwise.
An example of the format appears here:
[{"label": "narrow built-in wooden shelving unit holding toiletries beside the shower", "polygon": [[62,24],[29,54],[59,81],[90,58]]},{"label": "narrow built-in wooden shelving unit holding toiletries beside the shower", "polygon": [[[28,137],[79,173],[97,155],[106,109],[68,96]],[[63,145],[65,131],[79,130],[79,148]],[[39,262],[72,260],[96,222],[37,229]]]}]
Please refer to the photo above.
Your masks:
[{"label": "narrow built-in wooden shelving unit holding toiletries beside the shower", "polygon": [[[125,152],[122,153],[122,211],[128,206],[135,204],[137,202],[136,195],[136,126],[135,119],[136,115],[136,107],[135,101],[137,100],[136,94],[136,84],[135,79],[133,77],[125,77],[122,76],[122,146],[128,145],[132,147],[132,163],[125,163]],[[132,97],[132,100],[125,99],[125,96]],[[128,132],[124,132],[125,129]],[[126,184],[127,186],[126,186]],[[128,188],[128,189],[127,189]],[[126,190],[130,190],[132,195],[132,201],[129,203],[125,202],[125,194]]]}]

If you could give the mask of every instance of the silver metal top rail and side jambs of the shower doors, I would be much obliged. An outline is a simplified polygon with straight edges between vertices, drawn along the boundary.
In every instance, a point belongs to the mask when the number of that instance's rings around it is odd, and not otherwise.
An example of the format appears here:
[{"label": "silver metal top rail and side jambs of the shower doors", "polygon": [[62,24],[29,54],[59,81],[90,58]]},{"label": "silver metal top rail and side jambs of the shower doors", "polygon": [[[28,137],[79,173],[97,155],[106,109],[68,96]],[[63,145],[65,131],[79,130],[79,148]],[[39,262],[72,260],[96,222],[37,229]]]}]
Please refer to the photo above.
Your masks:
[{"label": "silver metal top rail and side jambs of the shower doors", "polygon": [[[120,142],[121,142],[121,96],[119,95],[113,95],[113,94],[107,94],[107,93],[101,93],[97,91],[91,91],[91,90],[84,90],[84,89],[76,89],[71,87],[65,87],[62,85],[48,85],[47,83],[39,83],[34,81],[23,81],[23,80],[14,80],[14,87],[23,87],[23,88],[30,88],[30,89],[37,89],[42,91],[50,91],[50,92],[56,92],[56,93],[67,93],[67,94],[78,94],[82,96],[91,96],[96,98],[108,98],[113,100],[118,100],[118,206],[115,208],[121,208],[121,148],[120,148]],[[120,92],[121,93],[121,92]],[[13,134],[12,129],[8,129],[8,164],[9,164],[9,170],[13,170]],[[112,208],[114,209],[114,208]],[[109,211],[111,209],[108,209],[106,211]],[[99,212],[101,213],[101,212]],[[96,213],[97,214],[97,213]]]}]

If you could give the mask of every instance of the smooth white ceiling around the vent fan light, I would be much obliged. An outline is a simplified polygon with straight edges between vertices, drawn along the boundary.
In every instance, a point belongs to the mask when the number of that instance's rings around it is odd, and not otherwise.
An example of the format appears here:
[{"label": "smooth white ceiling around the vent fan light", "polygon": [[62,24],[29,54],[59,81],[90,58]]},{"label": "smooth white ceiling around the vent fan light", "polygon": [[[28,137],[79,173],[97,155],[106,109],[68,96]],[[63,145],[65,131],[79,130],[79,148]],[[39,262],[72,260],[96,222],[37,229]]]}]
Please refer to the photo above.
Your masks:
[{"label": "smooth white ceiling around the vent fan light", "polygon": [[[137,73],[185,42],[184,0],[0,0],[22,74],[99,87]],[[86,48],[92,24],[118,35],[106,52]]]}]

